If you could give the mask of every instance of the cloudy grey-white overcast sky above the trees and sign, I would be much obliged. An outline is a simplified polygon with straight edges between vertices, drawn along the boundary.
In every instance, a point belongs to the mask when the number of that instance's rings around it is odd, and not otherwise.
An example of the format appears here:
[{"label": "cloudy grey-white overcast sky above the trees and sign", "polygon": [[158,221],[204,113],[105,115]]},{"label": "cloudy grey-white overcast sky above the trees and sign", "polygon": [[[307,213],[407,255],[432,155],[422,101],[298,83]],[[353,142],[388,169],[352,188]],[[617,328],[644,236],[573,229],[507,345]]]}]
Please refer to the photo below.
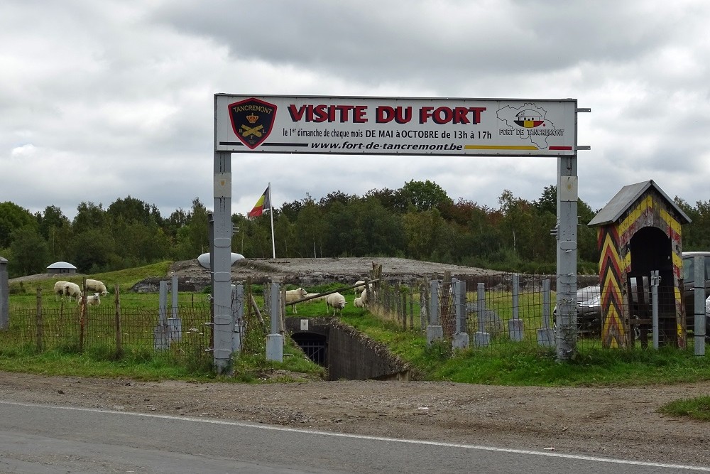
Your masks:
[{"label": "cloudy grey-white overcast sky above the trees and sign", "polygon": [[[706,0],[0,2],[0,202],[213,208],[214,94],[574,98],[579,198],[710,199]],[[431,180],[498,208],[556,158],[234,153],[232,212]]]}]

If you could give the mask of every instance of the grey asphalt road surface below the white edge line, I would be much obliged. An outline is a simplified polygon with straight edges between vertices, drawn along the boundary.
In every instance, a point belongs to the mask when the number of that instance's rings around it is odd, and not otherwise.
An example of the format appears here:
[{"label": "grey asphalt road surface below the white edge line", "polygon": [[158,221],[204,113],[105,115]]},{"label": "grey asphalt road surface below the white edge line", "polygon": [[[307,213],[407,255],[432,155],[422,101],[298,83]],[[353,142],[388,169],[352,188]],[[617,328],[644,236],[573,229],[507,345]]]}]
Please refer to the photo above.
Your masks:
[{"label": "grey asphalt road surface below the white edge line", "polygon": [[1,473],[688,473],[710,468],[0,402]]}]

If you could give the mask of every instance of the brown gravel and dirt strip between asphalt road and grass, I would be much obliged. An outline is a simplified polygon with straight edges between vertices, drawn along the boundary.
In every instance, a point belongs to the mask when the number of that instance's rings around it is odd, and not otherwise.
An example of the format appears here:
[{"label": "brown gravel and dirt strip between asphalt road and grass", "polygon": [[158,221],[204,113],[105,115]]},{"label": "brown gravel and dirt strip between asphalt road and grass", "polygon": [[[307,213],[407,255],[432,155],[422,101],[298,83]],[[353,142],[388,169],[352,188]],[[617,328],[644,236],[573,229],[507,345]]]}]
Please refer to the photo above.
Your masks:
[{"label": "brown gravel and dirt strip between asphalt road and grass", "polygon": [[493,387],[447,382],[137,382],[0,372],[17,402],[234,419],[660,463],[710,465],[710,423],[657,413],[710,382],[638,388]]}]

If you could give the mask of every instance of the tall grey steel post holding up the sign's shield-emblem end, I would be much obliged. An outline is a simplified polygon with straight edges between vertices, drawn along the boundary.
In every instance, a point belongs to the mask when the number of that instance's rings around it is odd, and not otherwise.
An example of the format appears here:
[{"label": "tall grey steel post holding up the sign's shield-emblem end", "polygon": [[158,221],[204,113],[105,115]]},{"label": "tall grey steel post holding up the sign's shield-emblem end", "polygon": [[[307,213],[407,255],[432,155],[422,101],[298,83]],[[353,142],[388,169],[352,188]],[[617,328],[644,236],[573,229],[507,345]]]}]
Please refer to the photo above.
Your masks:
[{"label": "tall grey steel post holding up the sign's shield-emblem end", "polygon": [[214,309],[214,368],[218,374],[231,370],[234,318],[231,313],[231,153],[214,152],[214,261],[212,307]]}]

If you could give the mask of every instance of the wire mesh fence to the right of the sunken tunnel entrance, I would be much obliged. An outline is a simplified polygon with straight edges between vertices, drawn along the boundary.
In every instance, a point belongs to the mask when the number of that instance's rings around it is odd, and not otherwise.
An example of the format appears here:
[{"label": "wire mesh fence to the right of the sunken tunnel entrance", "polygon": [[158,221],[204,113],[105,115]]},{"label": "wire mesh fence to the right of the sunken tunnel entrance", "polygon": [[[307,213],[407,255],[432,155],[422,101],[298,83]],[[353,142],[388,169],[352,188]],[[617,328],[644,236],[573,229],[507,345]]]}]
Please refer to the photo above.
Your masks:
[{"label": "wire mesh fence to the right of the sunken tunnel entrance", "polygon": [[[469,336],[467,347],[496,350],[510,345],[530,345],[555,348],[557,337],[557,307],[554,282],[550,276],[501,273],[485,276],[465,276],[465,296],[457,313],[454,288],[457,280],[444,275],[438,280],[435,295],[436,316],[432,315],[431,281],[405,285],[381,282],[371,311],[396,321],[405,330],[419,330],[424,335],[427,325],[440,325],[442,338],[452,343],[457,333]],[[580,279],[577,298],[575,344],[579,349],[601,349],[602,296],[594,278]],[[628,332],[630,347],[647,347],[653,337],[651,291],[648,284],[634,287],[628,295],[630,317],[620,322]],[[660,345],[676,345],[679,321],[673,289],[658,290]],[[459,321],[457,321],[457,319]],[[692,321],[687,317],[687,328]],[[690,341],[692,343],[692,340]]]}]

